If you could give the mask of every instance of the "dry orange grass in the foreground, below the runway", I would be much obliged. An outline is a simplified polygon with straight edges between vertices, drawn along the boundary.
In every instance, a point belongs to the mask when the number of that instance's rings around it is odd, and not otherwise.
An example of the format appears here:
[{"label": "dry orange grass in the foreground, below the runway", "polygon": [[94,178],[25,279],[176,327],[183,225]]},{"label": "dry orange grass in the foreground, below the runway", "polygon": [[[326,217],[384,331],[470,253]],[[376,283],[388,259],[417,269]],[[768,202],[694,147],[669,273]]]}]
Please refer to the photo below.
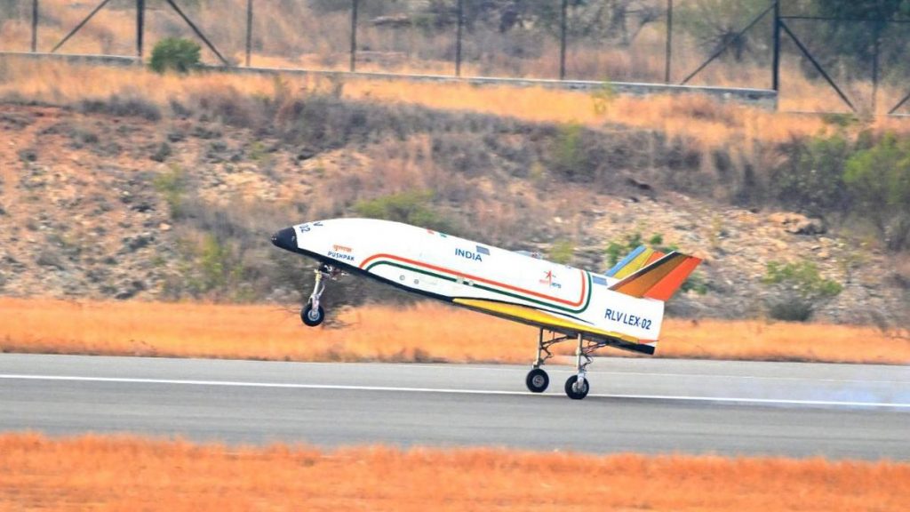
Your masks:
[{"label": "dry orange grass in the foreground, below the runway", "polygon": [[0,435],[0,509],[906,510],[910,465]]}]

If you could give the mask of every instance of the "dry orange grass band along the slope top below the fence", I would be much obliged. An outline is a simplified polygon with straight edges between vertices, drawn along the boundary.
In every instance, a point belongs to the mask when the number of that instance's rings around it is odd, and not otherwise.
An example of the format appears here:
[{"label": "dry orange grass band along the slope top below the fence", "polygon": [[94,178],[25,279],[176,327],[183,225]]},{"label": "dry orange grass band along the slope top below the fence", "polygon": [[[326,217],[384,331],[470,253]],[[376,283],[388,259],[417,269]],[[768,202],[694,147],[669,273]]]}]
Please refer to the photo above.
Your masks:
[{"label": "dry orange grass band along the slope top below the fence", "polygon": [[[3,63],[6,62],[5,67]],[[141,97],[167,108],[171,98],[205,97],[219,91],[272,96],[276,79],[258,75],[197,74],[159,76],[145,69],[80,67],[36,63],[6,57],[0,60],[0,97],[19,97],[58,105],[111,95]],[[613,97],[606,108],[594,108],[590,92],[543,87],[471,86],[459,83],[413,83],[403,80],[284,77],[292,90],[332,91],[351,99],[418,104],[531,121],[579,123],[591,127],[620,124],[685,136],[703,148],[749,150],[753,141],[776,143],[793,136],[824,133],[834,128],[821,118],[775,113],[763,108],[718,102],[702,96]],[[809,89],[812,95],[817,91]],[[870,121],[871,128],[908,131],[895,118]]]}]

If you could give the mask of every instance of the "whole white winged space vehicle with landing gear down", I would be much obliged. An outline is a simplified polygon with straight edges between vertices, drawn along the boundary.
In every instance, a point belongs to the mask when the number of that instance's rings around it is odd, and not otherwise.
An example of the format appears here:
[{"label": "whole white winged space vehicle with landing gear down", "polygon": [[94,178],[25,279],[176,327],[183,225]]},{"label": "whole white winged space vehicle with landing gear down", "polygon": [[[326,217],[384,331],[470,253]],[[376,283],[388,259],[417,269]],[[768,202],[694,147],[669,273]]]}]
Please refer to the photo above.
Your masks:
[{"label": "whole white winged space vehicle with landing gear down", "polygon": [[642,246],[598,273],[529,252],[371,219],[305,222],[278,230],[272,243],[320,263],[313,292],[300,312],[303,323],[317,326],[325,319],[320,298],[327,279],[364,275],[406,292],[536,326],[537,357],[525,379],[533,393],[550,384],[541,366],[552,357],[551,347],[576,343],[576,372],[565,384],[565,393],[576,400],[590,389],[585,375],[595,350],[611,346],[654,353],[664,302],[701,262]]}]

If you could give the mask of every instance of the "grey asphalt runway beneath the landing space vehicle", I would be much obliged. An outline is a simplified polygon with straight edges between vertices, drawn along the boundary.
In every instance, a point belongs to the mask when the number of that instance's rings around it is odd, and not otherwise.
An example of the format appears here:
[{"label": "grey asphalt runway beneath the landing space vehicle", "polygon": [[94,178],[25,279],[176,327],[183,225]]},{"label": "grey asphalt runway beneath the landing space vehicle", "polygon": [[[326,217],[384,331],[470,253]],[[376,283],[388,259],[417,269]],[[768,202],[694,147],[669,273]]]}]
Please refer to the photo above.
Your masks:
[{"label": "grey asphalt runway beneath the landing space vehicle", "polygon": [[910,460],[906,366],[599,358],[581,401],[528,369],[5,353],[0,431]]}]

